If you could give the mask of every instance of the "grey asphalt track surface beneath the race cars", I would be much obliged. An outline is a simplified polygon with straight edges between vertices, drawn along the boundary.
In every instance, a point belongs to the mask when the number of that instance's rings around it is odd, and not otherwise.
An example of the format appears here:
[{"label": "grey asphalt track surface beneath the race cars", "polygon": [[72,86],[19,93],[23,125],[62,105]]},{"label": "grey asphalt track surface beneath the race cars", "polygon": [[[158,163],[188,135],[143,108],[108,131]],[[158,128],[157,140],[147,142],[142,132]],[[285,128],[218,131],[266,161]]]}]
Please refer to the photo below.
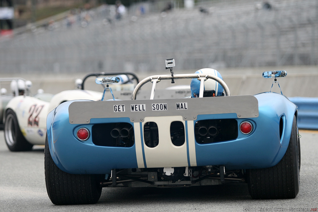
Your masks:
[{"label": "grey asphalt track surface beneath the race cars", "polygon": [[103,188],[97,204],[58,206],[46,193],[44,146],[35,146],[30,152],[10,152],[0,131],[0,211],[317,211],[318,132],[300,134],[301,186],[295,199],[252,200],[246,184],[225,184]]}]

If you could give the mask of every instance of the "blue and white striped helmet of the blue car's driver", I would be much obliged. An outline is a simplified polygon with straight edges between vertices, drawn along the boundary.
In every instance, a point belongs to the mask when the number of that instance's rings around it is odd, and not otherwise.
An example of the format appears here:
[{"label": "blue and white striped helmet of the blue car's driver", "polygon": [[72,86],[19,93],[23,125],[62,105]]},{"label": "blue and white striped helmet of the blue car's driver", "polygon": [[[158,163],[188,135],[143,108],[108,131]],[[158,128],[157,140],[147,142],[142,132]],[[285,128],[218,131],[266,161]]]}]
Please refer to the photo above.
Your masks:
[{"label": "blue and white striped helmet of the blue car's driver", "polygon": [[[200,69],[199,71],[195,72],[197,73],[206,73],[206,74],[211,74],[215,75],[219,78],[222,78],[221,74],[214,69],[211,68],[203,68]],[[200,92],[200,80],[196,79],[191,79],[191,97],[199,97],[199,92]],[[224,95],[224,89],[220,83],[215,81],[214,79],[207,79],[204,81],[204,96],[223,96]]]}]

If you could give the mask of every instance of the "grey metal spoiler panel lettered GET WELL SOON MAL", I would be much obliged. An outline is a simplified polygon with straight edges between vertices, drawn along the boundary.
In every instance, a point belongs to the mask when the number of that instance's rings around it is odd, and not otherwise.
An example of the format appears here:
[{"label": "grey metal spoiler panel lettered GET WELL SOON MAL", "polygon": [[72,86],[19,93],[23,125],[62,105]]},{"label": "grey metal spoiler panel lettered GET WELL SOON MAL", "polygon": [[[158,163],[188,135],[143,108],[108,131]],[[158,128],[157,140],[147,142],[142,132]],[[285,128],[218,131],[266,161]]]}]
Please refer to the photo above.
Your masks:
[{"label": "grey metal spoiler panel lettered GET WELL SOON MAL", "polygon": [[[236,113],[238,118],[259,116],[258,100],[252,95],[184,99],[145,99],[123,101],[75,101],[68,108],[70,124],[88,124],[91,119],[128,117],[143,122],[145,117],[182,116],[196,120],[198,115]],[[79,115],[80,114],[80,115]]]}]

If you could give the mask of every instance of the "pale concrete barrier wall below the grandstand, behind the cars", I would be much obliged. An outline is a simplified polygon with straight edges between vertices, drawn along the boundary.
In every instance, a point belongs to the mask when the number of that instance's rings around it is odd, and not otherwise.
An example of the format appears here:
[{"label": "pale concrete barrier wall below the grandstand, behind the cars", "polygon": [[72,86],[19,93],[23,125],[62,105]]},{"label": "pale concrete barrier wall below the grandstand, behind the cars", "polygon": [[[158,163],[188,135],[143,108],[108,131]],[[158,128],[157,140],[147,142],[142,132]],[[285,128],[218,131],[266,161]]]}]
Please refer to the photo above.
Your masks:
[{"label": "pale concrete barrier wall below the grandstand, behind the cars", "polygon": [[[318,66],[287,66],[287,67],[261,67],[261,68],[233,68],[219,69],[225,83],[228,85],[231,95],[254,95],[260,92],[270,91],[273,79],[262,78],[264,71],[286,70],[287,77],[278,78],[278,82],[283,94],[287,97],[318,97]],[[194,73],[196,70],[187,70],[179,73]],[[150,75],[169,74],[164,70],[162,72],[140,72],[136,73],[139,79]],[[17,76],[4,75],[1,77],[22,77],[32,81],[31,92],[36,93],[38,89],[44,92],[56,94],[58,92],[75,89],[75,80],[83,79],[88,73],[75,74],[19,74]],[[160,85],[159,85],[160,84]],[[169,80],[158,83],[157,86],[166,87],[171,85],[190,85],[190,80],[176,80],[171,84]],[[88,90],[101,91],[100,85],[95,85],[93,78],[87,81],[85,88]],[[273,92],[280,92],[278,84],[274,84]]]}]

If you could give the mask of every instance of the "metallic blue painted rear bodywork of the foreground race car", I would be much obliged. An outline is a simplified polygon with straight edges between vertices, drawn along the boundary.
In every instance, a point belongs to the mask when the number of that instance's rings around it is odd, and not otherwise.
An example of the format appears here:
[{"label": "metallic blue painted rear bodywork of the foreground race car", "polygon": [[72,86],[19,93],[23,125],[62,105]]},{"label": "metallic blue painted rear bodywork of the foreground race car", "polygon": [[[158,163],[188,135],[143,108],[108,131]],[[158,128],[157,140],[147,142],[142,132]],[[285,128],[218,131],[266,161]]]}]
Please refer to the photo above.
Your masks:
[{"label": "metallic blue painted rear bodywork of the foreground race car", "polygon": [[[259,104],[258,117],[239,119],[236,113],[197,116],[197,120],[236,119],[238,125],[244,120],[253,124],[252,133],[246,135],[239,131],[235,140],[209,144],[195,142],[197,166],[225,165],[229,169],[266,168],[276,165],[281,160],[288,147],[294,115],[297,118],[297,106],[278,93],[266,92],[254,96]],[[80,127],[86,127],[91,131],[92,126],[97,123],[127,122],[133,126],[134,123],[128,117],[122,117],[91,119],[89,124],[71,124],[68,107],[74,101],[59,105],[47,116],[48,144],[56,165],[71,174],[110,174],[114,168],[138,168],[136,144],[132,147],[96,146],[91,137],[83,142],[75,135]],[[283,123],[281,137],[280,121]],[[188,126],[185,126],[185,129],[186,132],[194,130]],[[142,130],[135,133],[140,133],[142,137]],[[144,162],[146,164],[147,161]]]}]

